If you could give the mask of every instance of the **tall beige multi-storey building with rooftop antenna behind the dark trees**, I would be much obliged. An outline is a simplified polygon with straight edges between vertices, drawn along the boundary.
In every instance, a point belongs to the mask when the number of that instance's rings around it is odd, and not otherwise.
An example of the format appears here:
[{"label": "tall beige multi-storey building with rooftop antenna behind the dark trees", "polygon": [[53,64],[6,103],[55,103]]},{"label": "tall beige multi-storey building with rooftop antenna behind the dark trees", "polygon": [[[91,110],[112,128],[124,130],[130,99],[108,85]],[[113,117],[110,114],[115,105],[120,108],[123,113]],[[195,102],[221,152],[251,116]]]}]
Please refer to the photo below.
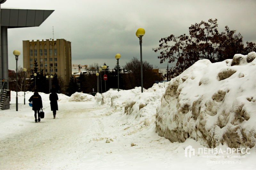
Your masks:
[{"label": "tall beige multi-storey building with rooftop antenna behind the dark trees", "polygon": [[57,74],[68,85],[71,74],[71,42],[64,39],[23,41],[23,67],[32,75],[34,61],[38,63],[38,72],[44,75]]}]

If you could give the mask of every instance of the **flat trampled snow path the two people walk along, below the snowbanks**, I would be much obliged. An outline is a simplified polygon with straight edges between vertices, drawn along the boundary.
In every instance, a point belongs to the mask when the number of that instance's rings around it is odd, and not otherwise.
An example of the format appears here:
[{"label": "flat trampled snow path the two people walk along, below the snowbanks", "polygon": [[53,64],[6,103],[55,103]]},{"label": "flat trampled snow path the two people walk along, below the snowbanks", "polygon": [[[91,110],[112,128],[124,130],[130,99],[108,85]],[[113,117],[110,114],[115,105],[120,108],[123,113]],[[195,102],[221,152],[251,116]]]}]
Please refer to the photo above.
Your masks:
[{"label": "flat trampled snow path the two people walk along, below the snowbanks", "polygon": [[[0,169],[255,169],[253,160],[239,165],[207,165],[220,159],[184,156],[194,140],[171,143],[129,115],[94,102],[59,103],[56,119],[44,103],[45,118],[35,123],[31,107],[0,112]],[[143,123],[142,123],[143,124]],[[113,142],[106,143],[107,138]],[[131,143],[136,144],[131,146]],[[254,159],[254,158],[253,158]],[[239,160],[239,159],[226,159]]]}]

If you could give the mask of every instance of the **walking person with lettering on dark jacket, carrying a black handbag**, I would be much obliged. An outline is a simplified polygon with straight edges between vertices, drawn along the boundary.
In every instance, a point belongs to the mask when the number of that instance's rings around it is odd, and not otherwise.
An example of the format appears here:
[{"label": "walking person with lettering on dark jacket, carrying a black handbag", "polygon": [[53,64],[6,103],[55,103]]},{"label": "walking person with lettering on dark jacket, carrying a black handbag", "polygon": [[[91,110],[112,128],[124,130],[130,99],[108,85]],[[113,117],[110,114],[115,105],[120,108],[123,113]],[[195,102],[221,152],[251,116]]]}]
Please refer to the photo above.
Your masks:
[{"label": "walking person with lettering on dark jacket, carrying a black handbag", "polygon": [[29,102],[33,101],[32,104],[32,110],[35,111],[35,122],[37,122],[36,119],[36,112],[38,114],[38,122],[40,122],[40,109],[43,108],[43,103],[42,103],[42,98],[41,96],[38,94],[38,90],[35,89],[34,95],[30,97],[30,99],[28,100]]}]

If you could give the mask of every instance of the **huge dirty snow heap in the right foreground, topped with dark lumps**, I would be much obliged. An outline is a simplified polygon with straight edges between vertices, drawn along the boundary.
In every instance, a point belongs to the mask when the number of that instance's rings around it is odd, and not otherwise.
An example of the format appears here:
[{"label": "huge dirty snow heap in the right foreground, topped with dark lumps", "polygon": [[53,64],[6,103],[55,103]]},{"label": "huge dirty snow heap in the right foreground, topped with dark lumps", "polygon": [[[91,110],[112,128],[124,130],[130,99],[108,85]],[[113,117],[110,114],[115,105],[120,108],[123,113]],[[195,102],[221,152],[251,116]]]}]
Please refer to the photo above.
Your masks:
[{"label": "huge dirty snow heap in the right foreground, topped with dark lumps", "polygon": [[171,142],[206,147],[256,144],[256,53],[211,63],[199,60],[173,78],[156,114],[156,131]]}]

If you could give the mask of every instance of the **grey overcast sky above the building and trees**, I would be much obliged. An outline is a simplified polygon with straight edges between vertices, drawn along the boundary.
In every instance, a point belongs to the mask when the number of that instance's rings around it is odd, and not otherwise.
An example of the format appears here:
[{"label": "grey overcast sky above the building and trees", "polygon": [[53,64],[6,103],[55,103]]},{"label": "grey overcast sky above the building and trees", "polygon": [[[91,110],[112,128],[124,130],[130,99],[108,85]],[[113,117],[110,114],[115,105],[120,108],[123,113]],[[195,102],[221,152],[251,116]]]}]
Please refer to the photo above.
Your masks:
[{"label": "grey overcast sky above the building and trees", "polygon": [[[255,0],[7,0],[1,8],[55,10],[39,27],[8,29],[9,69],[16,69],[13,50],[19,50],[18,66],[23,67],[22,41],[54,39],[71,41],[72,64],[106,63],[120,66],[132,57],[140,59],[138,28],[145,29],[142,58],[153,67],[160,64],[152,48],[171,34],[179,36],[202,20],[218,19],[219,32],[228,26],[246,41],[256,43]],[[74,70],[73,70],[74,71]]]}]

